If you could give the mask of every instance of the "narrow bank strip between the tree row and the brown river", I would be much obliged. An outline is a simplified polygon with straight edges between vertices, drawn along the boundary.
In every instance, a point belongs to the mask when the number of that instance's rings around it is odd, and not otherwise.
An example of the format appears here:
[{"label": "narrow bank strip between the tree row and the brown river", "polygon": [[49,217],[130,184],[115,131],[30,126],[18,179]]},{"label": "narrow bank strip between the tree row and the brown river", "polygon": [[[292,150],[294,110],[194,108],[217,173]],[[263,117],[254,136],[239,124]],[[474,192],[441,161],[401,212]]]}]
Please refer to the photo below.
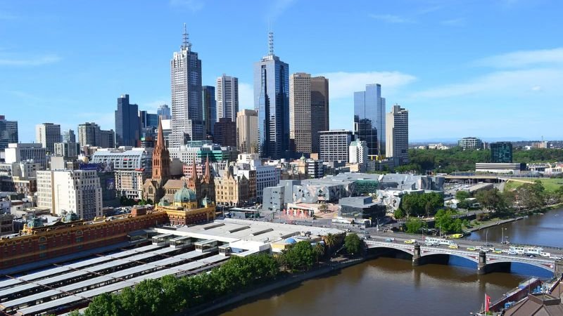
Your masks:
[{"label": "narrow bank strip between the tree row and the brown river", "polygon": [[338,260],[331,261],[330,263],[326,263],[325,265],[322,265],[319,268],[315,268],[314,270],[287,275],[285,277],[281,277],[280,279],[275,280],[270,284],[264,284],[261,285],[260,287],[248,289],[247,291],[244,291],[240,294],[236,294],[234,296],[220,298],[215,301],[205,303],[204,305],[200,305],[197,308],[191,308],[189,310],[178,312],[177,314],[175,314],[175,316],[205,315],[210,312],[214,312],[215,310],[228,308],[229,306],[234,305],[236,303],[240,303],[241,301],[245,301],[250,298],[255,298],[256,296],[267,294],[272,291],[282,289],[284,287],[289,287],[291,285],[298,284],[308,279],[313,279],[315,277],[327,275],[331,272],[336,272],[343,268],[350,267],[351,265],[357,265],[358,263],[362,263],[364,261],[365,258],[354,258],[354,259],[345,259],[339,261]]}]

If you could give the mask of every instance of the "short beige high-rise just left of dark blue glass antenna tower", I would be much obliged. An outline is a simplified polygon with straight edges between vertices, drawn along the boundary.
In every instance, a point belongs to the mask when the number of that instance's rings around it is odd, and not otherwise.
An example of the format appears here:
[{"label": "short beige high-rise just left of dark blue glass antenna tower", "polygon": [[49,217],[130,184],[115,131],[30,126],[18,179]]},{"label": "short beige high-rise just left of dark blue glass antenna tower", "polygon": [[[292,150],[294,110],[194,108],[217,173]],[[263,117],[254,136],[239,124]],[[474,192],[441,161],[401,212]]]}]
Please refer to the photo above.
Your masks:
[{"label": "short beige high-rise just left of dark blue glass antenna tower", "polygon": [[239,152],[258,153],[258,112],[242,110],[236,115],[236,147]]}]

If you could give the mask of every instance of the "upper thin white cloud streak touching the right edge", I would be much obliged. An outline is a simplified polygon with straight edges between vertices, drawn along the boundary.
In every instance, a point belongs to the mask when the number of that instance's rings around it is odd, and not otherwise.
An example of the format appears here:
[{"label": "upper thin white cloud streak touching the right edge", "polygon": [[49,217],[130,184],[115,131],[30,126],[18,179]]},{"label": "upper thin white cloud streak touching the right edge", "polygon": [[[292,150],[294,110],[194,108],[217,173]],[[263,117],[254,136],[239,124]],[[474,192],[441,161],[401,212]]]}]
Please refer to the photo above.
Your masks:
[{"label": "upper thin white cloud streak touching the right edge", "polygon": [[563,65],[563,48],[516,51],[483,58],[474,62],[474,65],[477,66],[496,68],[519,68],[546,64]]}]

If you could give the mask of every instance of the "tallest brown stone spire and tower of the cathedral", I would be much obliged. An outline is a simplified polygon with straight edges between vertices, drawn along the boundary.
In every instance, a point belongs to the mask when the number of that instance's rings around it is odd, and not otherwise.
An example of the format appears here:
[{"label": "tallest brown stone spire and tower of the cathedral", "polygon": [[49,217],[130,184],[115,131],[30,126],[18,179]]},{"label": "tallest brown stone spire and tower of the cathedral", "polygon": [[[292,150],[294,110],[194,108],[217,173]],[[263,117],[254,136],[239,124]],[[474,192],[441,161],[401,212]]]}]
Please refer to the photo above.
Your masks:
[{"label": "tallest brown stone spire and tower of the cathedral", "polygon": [[164,197],[164,185],[170,179],[170,152],[168,152],[163,135],[162,120],[158,119],[158,134],[153,150],[153,176],[143,184],[143,199],[151,199],[157,204]]}]

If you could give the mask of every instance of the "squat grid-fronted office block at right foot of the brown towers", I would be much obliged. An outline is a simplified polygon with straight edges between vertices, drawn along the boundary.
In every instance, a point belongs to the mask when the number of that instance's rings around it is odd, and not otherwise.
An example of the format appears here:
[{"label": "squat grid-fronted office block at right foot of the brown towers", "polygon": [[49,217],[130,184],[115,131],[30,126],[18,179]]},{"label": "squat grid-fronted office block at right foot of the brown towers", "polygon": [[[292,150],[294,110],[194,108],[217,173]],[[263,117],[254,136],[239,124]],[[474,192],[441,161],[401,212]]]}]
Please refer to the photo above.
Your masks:
[{"label": "squat grid-fronted office block at right foot of the brown towers", "polygon": [[347,162],[352,142],[352,132],[345,130],[322,131],[320,134],[319,159],[324,162]]}]

